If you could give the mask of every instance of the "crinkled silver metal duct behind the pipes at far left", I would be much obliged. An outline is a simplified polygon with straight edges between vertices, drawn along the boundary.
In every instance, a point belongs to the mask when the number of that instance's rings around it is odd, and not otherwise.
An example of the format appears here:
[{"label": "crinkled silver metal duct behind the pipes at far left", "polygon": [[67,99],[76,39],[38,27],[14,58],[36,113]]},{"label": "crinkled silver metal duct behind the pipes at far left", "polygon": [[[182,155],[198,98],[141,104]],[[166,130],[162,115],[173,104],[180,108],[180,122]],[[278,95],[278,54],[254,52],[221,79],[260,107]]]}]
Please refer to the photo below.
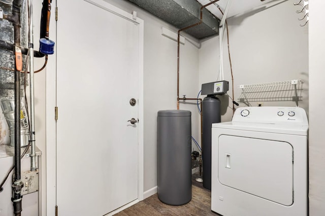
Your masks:
[{"label": "crinkled silver metal duct behind the pipes at far left", "polygon": [[[19,1],[17,1],[19,2]],[[21,27],[20,27],[20,42],[22,47],[28,47],[27,42],[27,33],[28,33],[28,14],[27,14],[27,2],[20,1],[21,9],[16,9],[17,11],[22,11],[21,16]],[[13,1],[0,1],[0,8],[2,8],[4,14],[11,14],[13,8]],[[2,19],[0,21],[0,41],[7,43],[10,46],[14,44],[14,28],[12,22]],[[13,47],[12,47],[13,48]],[[26,56],[23,55],[23,62],[25,62]],[[24,63],[22,69],[24,70]],[[15,135],[15,97],[14,97],[14,88],[15,88],[15,77],[14,71],[14,53],[12,50],[6,50],[0,48],[0,100],[1,107],[4,113],[4,116],[7,120],[9,126],[9,136],[10,136],[10,146],[14,147],[14,135]],[[20,143],[21,146],[26,146],[29,139],[29,129],[28,129],[28,120],[26,115],[26,108],[24,103],[24,77],[21,76],[20,79]],[[4,134],[1,134],[3,136]],[[4,143],[0,143],[4,144]]]}]

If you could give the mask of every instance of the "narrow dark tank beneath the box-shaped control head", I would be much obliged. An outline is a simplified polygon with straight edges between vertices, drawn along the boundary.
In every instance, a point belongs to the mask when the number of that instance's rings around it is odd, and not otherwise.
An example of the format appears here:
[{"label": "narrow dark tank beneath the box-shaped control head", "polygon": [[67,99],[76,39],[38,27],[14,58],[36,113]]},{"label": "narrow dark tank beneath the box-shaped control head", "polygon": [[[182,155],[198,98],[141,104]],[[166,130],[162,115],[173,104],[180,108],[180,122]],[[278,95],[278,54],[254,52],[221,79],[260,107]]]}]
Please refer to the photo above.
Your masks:
[{"label": "narrow dark tank beneath the box-shaped control head", "polygon": [[220,100],[217,97],[205,97],[202,102],[202,110],[203,187],[211,190],[211,127],[212,123],[221,121]]}]

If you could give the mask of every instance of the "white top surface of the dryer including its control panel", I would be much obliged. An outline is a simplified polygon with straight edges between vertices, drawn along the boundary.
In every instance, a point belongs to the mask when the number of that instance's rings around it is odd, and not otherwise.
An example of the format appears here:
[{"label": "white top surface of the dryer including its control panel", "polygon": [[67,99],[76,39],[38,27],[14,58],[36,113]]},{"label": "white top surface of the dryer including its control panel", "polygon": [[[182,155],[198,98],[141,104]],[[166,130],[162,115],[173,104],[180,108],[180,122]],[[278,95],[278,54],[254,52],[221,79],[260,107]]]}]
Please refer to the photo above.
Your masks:
[{"label": "white top surface of the dryer including its control panel", "polygon": [[233,121],[214,123],[212,127],[293,135],[307,135],[308,119],[301,107],[240,107]]}]

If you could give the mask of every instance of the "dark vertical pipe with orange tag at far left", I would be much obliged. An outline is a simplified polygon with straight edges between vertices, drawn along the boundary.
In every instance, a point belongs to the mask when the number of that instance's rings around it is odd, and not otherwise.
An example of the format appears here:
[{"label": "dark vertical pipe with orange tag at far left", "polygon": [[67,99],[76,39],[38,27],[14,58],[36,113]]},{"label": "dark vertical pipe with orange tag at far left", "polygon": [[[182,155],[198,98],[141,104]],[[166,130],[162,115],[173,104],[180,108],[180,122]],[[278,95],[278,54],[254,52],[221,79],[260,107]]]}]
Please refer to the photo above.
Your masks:
[{"label": "dark vertical pipe with orange tag at far left", "polygon": [[14,26],[14,61],[15,61],[15,177],[12,185],[12,202],[14,214],[20,215],[21,208],[21,188],[23,184],[20,179],[20,71],[22,70],[22,54],[20,48],[20,9],[22,0],[14,0],[12,5],[12,15],[9,17]]}]

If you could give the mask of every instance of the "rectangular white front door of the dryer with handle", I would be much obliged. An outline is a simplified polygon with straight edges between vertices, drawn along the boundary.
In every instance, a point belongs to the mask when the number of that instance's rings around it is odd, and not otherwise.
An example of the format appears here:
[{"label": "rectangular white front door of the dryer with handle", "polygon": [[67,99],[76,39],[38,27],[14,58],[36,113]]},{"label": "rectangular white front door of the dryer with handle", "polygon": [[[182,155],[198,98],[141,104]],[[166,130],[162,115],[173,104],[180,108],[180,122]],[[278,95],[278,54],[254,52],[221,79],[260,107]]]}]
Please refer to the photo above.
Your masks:
[{"label": "rectangular white front door of the dryer with handle", "polygon": [[222,185],[282,205],[293,204],[293,147],[288,142],[220,135]]}]

